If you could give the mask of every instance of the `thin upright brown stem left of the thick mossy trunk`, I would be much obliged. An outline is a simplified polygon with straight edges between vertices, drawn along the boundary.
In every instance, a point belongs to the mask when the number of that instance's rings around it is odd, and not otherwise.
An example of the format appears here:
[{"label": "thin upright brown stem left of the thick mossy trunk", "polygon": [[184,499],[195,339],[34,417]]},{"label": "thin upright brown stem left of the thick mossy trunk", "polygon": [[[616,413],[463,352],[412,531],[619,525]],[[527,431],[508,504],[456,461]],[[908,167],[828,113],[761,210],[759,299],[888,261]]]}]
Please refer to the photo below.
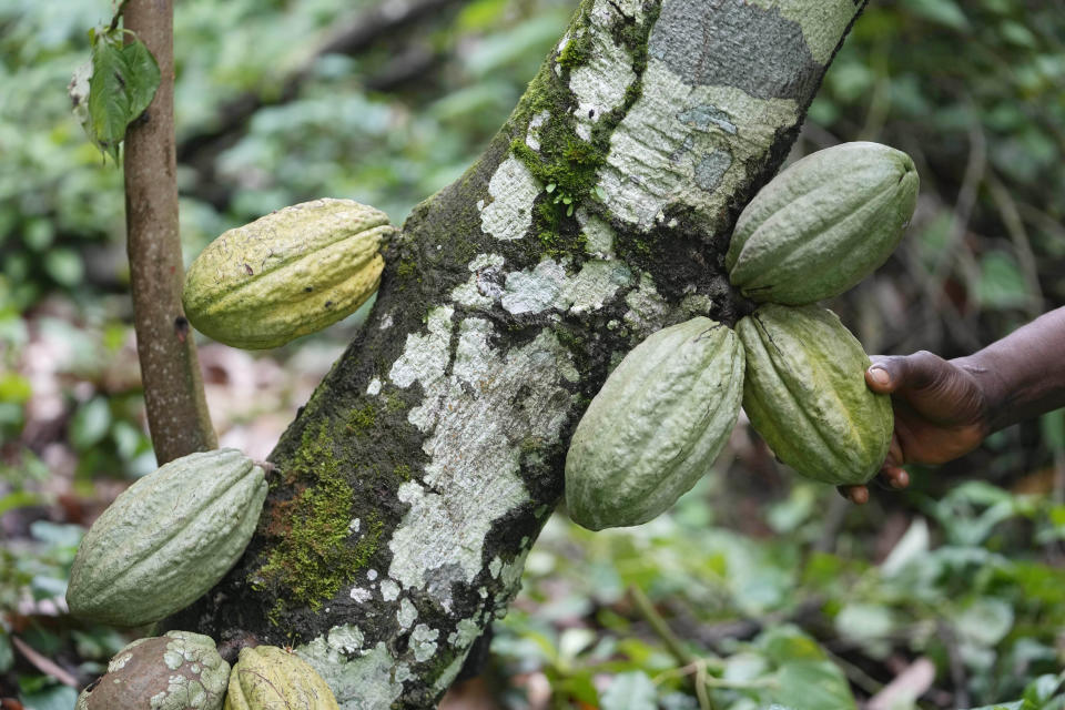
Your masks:
[{"label": "thin upright brown stem left of the thick mossy trunk", "polygon": [[159,464],[217,446],[196,344],[181,305],[184,267],[174,158],[174,28],[171,0],[130,0],[124,27],[159,62],[155,98],[125,133],[125,229],[136,352]]}]

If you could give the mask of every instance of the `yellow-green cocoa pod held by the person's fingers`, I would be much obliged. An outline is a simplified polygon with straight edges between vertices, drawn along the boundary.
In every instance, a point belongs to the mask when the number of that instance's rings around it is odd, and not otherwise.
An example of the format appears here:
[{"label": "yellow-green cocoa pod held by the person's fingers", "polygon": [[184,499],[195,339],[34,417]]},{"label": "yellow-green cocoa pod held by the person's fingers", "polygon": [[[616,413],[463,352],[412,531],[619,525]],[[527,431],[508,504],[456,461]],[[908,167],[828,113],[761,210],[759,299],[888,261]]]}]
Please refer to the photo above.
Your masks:
[{"label": "yellow-green cocoa pod held by the person's fingers", "polygon": [[736,329],[747,349],[743,410],[777,457],[836,486],[872,478],[891,444],[891,398],[865,386],[869,357],[840,318],[765,304]]}]

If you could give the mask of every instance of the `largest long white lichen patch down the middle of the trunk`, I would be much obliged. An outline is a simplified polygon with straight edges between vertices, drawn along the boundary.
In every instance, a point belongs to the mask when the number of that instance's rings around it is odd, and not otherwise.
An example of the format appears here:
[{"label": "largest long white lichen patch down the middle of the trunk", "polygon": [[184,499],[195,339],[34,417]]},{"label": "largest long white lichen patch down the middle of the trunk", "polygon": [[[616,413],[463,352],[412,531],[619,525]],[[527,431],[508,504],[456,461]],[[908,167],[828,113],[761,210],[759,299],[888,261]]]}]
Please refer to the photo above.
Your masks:
[{"label": "largest long white lichen patch down the middle of the trunk", "polygon": [[432,432],[423,444],[429,463],[422,481],[400,486],[410,508],[388,542],[388,576],[427,589],[445,609],[452,585],[480,572],[494,523],[530,501],[521,444],[557,440],[571,406],[560,372],[572,368],[571,357],[551,332],[509,352],[493,346],[493,335],[488,321],[463,321],[450,375],[423,383],[423,406],[436,397],[447,416],[422,419]]}]

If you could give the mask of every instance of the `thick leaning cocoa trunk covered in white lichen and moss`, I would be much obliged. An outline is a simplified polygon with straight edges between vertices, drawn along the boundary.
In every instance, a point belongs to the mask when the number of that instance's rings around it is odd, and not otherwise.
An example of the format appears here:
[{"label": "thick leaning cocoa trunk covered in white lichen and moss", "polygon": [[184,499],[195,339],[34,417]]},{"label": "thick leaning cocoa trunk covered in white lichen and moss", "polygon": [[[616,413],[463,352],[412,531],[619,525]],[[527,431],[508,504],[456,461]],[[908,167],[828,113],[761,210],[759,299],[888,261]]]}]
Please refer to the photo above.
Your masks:
[{"label": "thick leaning cocoa trunk covered in white lichen and moss", "polygon": [[418,205],[271,460],[245,556],[168,621],[291,645],[342,708],[432,707],[506,613],[574,427],[648,334],[750,308],[722,262],[864,2],[585,0]]}]

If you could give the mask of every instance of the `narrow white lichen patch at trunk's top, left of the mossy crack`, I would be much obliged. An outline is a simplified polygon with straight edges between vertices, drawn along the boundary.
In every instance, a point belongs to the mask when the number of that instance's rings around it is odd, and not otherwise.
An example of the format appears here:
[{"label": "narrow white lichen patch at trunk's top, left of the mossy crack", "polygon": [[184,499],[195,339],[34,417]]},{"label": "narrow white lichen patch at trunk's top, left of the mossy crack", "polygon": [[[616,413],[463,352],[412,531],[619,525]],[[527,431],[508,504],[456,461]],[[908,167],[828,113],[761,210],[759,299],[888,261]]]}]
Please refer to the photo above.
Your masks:
[{"label": "narrow white lichen patch at trunk's top, left of the mossy crack", "polygon": [[577,135],[586,141],[591,140],[591,126],[625,102],[626,90],[636,81],[632,58],[623,47],[615,43],[610,31],[617,20],[617,10],[608,0],[596,0],[589,23],[591,49],[588,61],[569,75],[569,88],[577,100],[574,109]]}]

